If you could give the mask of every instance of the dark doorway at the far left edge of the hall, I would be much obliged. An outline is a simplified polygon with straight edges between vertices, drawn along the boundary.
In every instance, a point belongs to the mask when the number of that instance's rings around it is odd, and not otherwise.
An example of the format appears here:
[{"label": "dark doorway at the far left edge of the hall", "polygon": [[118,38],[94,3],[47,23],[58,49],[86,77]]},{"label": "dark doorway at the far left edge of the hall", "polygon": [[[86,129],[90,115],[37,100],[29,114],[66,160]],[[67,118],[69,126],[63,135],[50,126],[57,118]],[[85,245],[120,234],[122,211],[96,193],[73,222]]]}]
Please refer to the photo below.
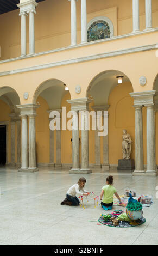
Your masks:
[{"label": "dark doorway at the far left edge of the hall", "polygon": [[0,165],[6,163],[6,125],[0,125]]}]

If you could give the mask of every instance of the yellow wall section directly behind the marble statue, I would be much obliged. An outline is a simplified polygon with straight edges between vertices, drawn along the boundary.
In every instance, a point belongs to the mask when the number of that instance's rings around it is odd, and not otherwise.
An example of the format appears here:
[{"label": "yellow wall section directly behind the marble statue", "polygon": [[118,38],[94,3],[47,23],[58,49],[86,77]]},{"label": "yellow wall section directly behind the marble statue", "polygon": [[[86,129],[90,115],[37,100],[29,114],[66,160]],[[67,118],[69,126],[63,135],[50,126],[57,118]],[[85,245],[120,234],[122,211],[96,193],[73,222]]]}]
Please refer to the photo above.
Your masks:
[{"label": "yellow wall section directly behind the marble statue", "polygon": [[118,164],[122,159],[122,130],[126,129],[132,139],[131,158],[135,159],[135,109],[129,93],[132,86],[123,83],[115,87],[110,96],[109,108],[109,163]]}]

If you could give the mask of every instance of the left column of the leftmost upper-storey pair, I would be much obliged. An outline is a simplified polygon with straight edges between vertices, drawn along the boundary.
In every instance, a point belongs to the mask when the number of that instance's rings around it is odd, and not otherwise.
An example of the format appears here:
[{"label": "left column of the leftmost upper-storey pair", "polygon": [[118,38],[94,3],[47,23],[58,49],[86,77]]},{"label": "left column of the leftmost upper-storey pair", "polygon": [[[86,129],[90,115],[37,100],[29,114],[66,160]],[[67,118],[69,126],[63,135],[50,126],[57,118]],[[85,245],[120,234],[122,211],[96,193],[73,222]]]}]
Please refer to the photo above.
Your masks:
[{"label": "left column of the leftmost upper-storey pair", "polygon": [[21,16],[21,56],[27,54],[27,39],[26,39],[26,12],[20,13]]}]

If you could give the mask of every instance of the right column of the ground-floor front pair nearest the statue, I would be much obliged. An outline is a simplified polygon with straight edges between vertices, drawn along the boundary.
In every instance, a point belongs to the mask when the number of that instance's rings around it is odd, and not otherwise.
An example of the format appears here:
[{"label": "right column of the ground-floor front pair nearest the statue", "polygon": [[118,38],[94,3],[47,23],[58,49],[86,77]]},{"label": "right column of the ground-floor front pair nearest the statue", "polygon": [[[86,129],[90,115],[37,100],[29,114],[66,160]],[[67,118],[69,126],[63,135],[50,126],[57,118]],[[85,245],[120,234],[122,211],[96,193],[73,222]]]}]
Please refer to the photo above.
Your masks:
[{"label": "right column of the ground-floor front pair nearest the statue", "polygon": [[156,173],[155,111],[147,105],[147,173]]}]

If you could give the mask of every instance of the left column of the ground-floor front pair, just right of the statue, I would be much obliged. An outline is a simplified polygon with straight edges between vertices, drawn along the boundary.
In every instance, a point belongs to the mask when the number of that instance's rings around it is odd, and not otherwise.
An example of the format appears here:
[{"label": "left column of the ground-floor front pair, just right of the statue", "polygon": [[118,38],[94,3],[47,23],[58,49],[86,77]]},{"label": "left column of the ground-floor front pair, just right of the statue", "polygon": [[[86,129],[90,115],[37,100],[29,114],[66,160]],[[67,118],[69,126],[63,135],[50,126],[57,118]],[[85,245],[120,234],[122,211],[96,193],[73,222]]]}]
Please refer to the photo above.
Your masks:
[{"label": "left column of the ground-floor front pair, just right of the statue", "polygon": [[135,107],[135,173],[144,173],[142,107]]}]

